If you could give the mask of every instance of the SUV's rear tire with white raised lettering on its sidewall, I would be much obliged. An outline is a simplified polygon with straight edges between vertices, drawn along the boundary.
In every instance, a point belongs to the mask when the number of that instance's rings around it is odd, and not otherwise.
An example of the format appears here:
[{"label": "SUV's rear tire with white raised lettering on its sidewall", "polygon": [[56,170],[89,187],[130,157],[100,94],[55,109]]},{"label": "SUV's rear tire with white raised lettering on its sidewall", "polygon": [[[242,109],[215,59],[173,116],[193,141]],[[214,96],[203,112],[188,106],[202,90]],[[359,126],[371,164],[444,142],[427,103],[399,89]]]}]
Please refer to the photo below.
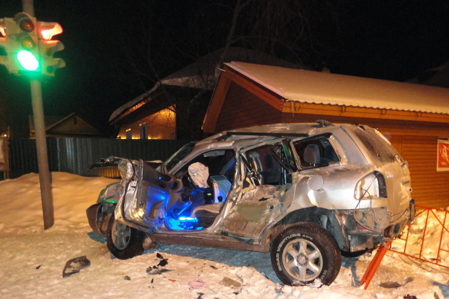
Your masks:
[{"label": "SUV's rear tire with white raised lettering on its sidewall", "polygon": [[[297,277],[294,277],[291,274],[289,274],[289,270],[286,269],[283,258],[284,249],[287,247],[288,244],[296,244],[295,242],[293,242],[295,240],[298,240],[298,242],[306,241],[303,244],[307,244],[306,250],[308,250],[310,256],[312,256],[313,251],[310,251],[310,249],[308,248],[313,247],[315,247],[313,249],[317,250],[321,255],[320,257],[314,258],[315,261],[316,259],[318,259],[318,264],[320,264],[318,268],[321,269],[317,269],[316,273],[308,274],[308,276],[310,277],[313,277],[315,275],[313,279],[309,280],[300,279],[301,277],[299,276],[301,274],[299,273],[298,267],[297,267],[298,269]],[[300,250],[298,249],[298,253],[299,251]],[[291,255],[290,257],[287,256],[288,259],[290,259],[291,257],[292,257]],[[308,258],[309,256],[306,257]],[[299,258],[300,256],[298,257],[297,263],[304,261],[299,260]],[[306,259],[305,264],[307,263],[307,261],[308,259]],[[335,280],[338,273],[340,272],[341,252],[337,242],[335,241],[335,238],[332,237],[332,235],[326,229],[315,223],[300,222],[283,230],[273,240],[273,246],[271,248],[271,264],[277,277],[279,277],[281,282],[285,283],[286,285],[304,286],[308,284],[313,284],[315,279],[319,278],[322,284],[329,286]],[[314,265],[316,264],[314,263]],[[290,271],[293,270],[290,269]],[[313,271],[304,270],[304,273],[310,272]],[[305,278],[307,278],[307,276],[305,276]]]}]

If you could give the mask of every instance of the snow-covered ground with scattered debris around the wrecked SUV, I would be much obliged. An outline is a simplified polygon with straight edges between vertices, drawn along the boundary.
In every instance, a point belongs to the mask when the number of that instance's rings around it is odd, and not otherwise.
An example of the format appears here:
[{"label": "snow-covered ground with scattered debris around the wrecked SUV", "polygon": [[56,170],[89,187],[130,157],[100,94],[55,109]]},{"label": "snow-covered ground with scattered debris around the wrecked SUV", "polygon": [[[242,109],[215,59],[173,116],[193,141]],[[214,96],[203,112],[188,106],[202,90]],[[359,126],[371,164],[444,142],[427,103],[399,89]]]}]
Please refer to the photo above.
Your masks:
[{"label": "snow-covered ground with scattered debris around the wrecked SUV", "polygon": [[[449,298],[449,271],[391,251],[366,291],[358,282],[372,259],[370,254],[343,257],[336,281],[321,288],[283,286],[271,268],[269,254],[258,252],[158,244],[130,260],[111,259],[105,238],[91,231],[85,216],[85,209],[111,182],[53,173],[55,225],[45,231],[38,175],[0,182],[0,298],[383,299],[409,294],[434,299],[434,293]],[[157,253],[168,259],[164,268],[173,271],[146,273],[147,267],[159,263]],[[62,278],[66,261],[77,256],[87,256],[91,266]],[[242,286],[225,286],[224,277]],[[407,277],[414,280],[396,289],[379,286]],[[198,279],[207,287],[189,286]]]}]

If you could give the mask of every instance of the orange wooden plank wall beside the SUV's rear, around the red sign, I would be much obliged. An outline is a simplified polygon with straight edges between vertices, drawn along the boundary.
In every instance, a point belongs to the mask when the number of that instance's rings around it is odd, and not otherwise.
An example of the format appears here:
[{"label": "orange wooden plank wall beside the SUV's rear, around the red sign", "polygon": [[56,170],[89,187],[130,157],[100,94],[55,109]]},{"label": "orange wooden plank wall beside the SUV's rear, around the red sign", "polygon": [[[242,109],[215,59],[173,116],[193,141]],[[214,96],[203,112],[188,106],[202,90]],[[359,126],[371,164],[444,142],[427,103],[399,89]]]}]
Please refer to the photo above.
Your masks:
[{"label": "orange wooden plank wall beside the SUV's rear, around the red sign", "polygon": [[409,162],[412,198],[415,203],[433,208],[449,206],[449,171],[436,171],[436,136],[392,136],[392,145]]}]

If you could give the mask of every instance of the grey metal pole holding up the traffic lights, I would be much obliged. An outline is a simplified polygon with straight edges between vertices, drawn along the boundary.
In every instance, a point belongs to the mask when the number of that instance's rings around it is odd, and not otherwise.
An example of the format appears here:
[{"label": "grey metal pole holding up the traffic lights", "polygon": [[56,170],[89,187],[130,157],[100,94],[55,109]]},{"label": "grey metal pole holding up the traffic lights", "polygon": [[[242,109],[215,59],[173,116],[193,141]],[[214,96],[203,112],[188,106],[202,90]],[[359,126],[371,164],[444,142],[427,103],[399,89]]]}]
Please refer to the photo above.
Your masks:
[{"label": "grey metal pole holding up the traffic lights", "polygon": [[[22,0],[22,8],[25,13],[34,16],[33,0]],[[40,198],[42,200],[42,213],[44,215],[44,230],[47,230],[54,224],[54,212],[50,172],[48,171],[47,141],[45,140],[44,108],[42,107],[40,78],[31,78],[30,86],[37,149],[37,164],[39,167]]]}]

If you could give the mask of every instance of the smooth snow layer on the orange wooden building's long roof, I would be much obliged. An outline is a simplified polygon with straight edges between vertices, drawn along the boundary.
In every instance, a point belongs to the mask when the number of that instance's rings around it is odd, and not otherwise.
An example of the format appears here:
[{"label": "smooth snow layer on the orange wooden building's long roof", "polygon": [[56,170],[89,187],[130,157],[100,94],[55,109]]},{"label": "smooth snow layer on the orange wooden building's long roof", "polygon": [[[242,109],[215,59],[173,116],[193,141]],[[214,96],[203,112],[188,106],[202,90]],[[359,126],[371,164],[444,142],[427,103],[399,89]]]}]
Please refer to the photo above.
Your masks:
[{"label": "smooth snow layer on the orange wooden building's long roof", "polygon": [[449,114],[447,88],[236,61],[225,65],[289,101]]}]

